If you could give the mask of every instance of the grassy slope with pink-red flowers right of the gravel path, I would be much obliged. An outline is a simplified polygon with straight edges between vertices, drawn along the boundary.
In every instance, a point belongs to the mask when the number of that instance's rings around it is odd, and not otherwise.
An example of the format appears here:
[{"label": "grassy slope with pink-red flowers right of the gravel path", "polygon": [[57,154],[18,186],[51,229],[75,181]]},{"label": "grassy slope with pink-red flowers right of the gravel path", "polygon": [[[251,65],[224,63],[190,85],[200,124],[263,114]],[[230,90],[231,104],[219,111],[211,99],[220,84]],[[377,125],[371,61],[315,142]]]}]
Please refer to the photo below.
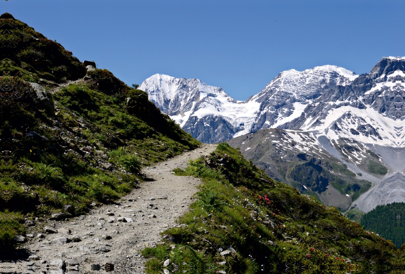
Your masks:
[{"label": "grassy slope with pink-red flowers right of the gravel path", "polygon": [[165,243],[145,249],[147,273],[403,270],[403,249],[271,179],[227,144],[174,171],[203,184],[190,212],[164,232]]}]

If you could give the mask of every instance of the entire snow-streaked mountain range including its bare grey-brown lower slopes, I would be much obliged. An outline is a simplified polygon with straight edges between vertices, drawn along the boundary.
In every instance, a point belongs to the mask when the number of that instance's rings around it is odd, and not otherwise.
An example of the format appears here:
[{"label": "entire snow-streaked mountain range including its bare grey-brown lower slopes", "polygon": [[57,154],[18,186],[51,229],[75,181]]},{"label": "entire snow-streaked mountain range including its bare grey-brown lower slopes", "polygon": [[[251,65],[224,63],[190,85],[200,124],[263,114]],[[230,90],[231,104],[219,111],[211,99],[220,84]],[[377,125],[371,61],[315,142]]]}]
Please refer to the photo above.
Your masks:
[{"label": "entire snow-streaked mountain range including its bare grey-brown lower slopes", "polygon": [[405,202],[405,57],[361,75],[284,71],[244,102],[198,79],[156,74],[139,88],[194,138],[232,139],[269,175],[326,204],[368,212]]}]

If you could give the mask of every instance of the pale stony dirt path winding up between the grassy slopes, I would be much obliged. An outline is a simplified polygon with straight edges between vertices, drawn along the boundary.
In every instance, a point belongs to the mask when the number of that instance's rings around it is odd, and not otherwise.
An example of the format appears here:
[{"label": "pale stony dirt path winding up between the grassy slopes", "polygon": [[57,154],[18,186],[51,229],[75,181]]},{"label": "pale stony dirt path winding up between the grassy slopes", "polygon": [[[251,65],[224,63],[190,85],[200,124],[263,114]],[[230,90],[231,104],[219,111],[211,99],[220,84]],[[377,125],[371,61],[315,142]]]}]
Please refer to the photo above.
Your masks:
[{"label": "pale stony dirt path winding up between the grassy slopes", "polygon": [[[50,220],[32,227],[22,247],[30,258],[0,262],[0,273],[144,273],[141,250],[163,241],[160,233],[178,225],[177,217],[188,210],[200,184],[198,178],[176,176],[172,170],[185,168],[190,159],[209,155],[216,147],[204,144],[145,167],[143,173],[150,180],[141,182],[138,189],[116,204],[94,207],[87,215],[66,221]],[[38,238],[38,234],[42,235]]]}]

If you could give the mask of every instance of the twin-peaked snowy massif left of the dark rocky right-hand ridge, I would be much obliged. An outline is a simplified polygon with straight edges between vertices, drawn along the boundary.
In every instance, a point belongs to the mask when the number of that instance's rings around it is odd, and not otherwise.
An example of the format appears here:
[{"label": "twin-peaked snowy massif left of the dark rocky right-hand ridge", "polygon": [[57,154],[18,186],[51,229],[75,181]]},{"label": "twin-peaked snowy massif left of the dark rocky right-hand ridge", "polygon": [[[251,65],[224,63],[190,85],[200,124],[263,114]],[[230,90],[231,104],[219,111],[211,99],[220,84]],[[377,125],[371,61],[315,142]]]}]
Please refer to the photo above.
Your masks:
[{"label": "twin-peaked snowy massif left of the dark rocky right-hand ridge", "polygon": [[261,92],[247,101],[236,101],[220,87],[198,79],[155,74],[139,88],[204,143],[218,143],[260,128],[285,124],[299,117],[314,99],[336,85],[347,85],[358,75],[336,66],[281,72]]}]

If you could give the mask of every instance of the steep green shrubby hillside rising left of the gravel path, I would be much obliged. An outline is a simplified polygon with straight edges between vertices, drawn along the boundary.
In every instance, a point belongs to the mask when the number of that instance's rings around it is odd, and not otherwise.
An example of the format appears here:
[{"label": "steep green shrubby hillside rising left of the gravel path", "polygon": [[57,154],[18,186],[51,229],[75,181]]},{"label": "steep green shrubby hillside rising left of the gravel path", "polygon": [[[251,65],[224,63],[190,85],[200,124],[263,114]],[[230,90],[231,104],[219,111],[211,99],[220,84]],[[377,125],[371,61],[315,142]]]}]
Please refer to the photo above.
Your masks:
[{"label": "steep green shrubby hillside rising left of the gravel path", "polygon": [[118,199],[143,165],[199,145],[142,90],[107,70],[86,75],[60,44],[9,14],[0,29],[0,250],[29,225]]}]

